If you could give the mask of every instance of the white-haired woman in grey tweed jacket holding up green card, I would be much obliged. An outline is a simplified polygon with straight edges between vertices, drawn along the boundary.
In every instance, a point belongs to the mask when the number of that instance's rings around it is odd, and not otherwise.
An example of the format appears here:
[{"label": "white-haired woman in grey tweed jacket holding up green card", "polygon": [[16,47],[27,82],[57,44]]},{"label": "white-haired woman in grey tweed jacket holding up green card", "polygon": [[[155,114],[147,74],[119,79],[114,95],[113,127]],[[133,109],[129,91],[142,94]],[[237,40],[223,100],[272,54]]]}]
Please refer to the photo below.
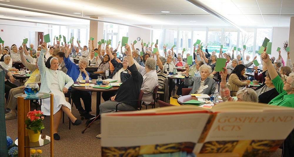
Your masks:
[{"label": "white-haired woman in grey tweed jacket holding up green card", "polygon": [[[189,66],[185,65],[186,71],[189,71]],[[191,77],[185,74],[184,85],[193,86],[190,94],[214,94],[216,87],[216,82],[209,78],[208,76],[211,74],[211,67],[208,65],[201,65],[199,68],[201,77]]]}]

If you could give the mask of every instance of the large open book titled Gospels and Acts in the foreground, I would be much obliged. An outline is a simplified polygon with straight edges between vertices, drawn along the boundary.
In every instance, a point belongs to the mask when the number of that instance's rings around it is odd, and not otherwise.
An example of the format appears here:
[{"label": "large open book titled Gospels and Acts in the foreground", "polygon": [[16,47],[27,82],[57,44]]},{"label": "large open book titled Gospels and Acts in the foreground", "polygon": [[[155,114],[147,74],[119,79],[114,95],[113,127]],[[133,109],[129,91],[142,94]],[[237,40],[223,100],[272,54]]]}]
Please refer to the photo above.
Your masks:
[{"label": "large open book titled Gospels and Acts in the foreground", "polygon": [[270,156],[294,127],[294,109],[225,102],[211,110],[171,106],[101,115],[102,156],[177,151],[198,156]]}]

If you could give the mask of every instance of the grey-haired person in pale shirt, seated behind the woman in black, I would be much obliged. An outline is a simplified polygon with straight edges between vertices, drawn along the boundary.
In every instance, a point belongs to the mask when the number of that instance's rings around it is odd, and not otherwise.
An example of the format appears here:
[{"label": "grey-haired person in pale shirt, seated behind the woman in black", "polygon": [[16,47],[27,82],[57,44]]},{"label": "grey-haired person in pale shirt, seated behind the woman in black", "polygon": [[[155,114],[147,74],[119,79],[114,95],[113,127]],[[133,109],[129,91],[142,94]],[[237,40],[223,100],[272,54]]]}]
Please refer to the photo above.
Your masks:
[{"label": "grey-haired person in pale shirt, seated behind the woman in black", "polygon": [[[156,52],[156,55],[159,55],[158,52]],[[149,57],[147,58],[145,62],[145,70],[146,74],[143,75],[143,83],[141,90],[143,90],[143,98],[145,104],[150,104],[153,102],[153,92],[154,88],[158,85],[158,78],[156,74],[156,61],[155,59]]]}]

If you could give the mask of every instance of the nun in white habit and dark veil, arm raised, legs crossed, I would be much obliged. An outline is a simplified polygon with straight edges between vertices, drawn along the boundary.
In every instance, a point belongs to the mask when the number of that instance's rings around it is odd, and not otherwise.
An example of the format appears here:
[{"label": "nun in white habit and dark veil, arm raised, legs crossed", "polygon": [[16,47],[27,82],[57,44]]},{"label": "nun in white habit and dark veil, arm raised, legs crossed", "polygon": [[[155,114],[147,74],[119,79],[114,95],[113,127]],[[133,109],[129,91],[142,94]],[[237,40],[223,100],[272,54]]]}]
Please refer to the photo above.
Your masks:
[{"label": "nun in white habit and dark veil, arm raised, legs crossed", "polygon": [[[54,94],[54,122],[53,122],[53,138],[59,140],[60,136],[57,133],[62,111],[70,118],[73,125],[80,125],[81,120],[74,117],[71,113],[71,104],[66,101],[64,93],[67,93],[69,87],[74,84],[74,81],[64,72],[58,70],[58,59],[56,57],[49,57],[44,63],[44,54],[47,44],[41,44],[42,50],[38,60],[38,67],[41,74],[40,92]],[[50,115],[50,98],[44,99],[41,106],[44,115]]]}]

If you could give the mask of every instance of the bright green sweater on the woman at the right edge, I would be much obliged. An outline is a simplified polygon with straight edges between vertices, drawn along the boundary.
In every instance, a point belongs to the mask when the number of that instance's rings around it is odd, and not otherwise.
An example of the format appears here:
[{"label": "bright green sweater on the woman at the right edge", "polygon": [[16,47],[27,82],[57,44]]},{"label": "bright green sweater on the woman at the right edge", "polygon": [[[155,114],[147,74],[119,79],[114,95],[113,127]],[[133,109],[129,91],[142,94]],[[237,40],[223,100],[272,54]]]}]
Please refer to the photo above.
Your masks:
[{"label": "bright green sweater on the woman at the right edge", "polygon": [[294,94],[287,94],[287,92],[283,90],[284,83],[280,76],[278,75],[275,77],[272,82],[279,95],[273,98],[268,104],[294,108]]}]

